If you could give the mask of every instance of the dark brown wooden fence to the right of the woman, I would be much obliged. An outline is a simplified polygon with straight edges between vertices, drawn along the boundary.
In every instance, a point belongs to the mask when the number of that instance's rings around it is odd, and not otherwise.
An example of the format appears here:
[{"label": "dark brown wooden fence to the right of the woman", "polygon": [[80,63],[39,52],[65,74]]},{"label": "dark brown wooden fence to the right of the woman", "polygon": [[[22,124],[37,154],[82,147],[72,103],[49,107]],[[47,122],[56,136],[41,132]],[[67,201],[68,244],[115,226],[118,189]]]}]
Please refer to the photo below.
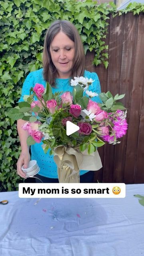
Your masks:
[{"label": "dark brown wooden fence to the right of the woman", "polygon": [[96,72],[102,92],[126,94],[128,132],[117,145],[99,148],[103,168],[96,182],[144,183],[144,14],[110,16],[106,44],[109,65],[92,65],[93,52],[86,54],[86,70]]}]

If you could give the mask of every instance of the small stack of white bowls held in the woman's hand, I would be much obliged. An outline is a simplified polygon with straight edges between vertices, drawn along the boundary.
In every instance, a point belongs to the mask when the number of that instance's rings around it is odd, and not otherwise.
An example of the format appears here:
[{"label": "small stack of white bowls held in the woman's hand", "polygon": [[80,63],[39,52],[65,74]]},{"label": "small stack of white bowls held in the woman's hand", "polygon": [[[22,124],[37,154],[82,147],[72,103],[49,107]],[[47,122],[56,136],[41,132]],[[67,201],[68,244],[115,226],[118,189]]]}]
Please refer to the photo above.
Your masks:
[{"label": "small stack of white bowls held in the woman's hand", "polygon": [[26,174],[26,177],[28,178],[30,176],[36,175],[39,172],[40,168],[38,167],[36,160],[31,160],[28,163],[28,168],[24,168],[24,166],[22,166],[22,170]]}]

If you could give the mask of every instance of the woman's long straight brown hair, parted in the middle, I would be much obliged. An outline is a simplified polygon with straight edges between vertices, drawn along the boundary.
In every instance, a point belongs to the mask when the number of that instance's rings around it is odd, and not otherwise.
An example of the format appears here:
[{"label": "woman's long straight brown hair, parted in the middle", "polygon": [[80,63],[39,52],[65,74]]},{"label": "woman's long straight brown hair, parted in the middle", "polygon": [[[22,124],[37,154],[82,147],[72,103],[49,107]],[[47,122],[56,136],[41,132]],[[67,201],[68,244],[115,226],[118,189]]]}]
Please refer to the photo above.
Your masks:
[{"label": "woman's long straight brown hair, parted in the middle", "polygon": [[62,31],[75,44],[74,64],[72,68],[72,78],[74,76],[84,76],[85,54],[84,47],[76,27],[67,20],[56,20],[48,28],[44,40],[43,50],[43,76],[44,80],[55,87],[55,78],[58,76],[56,67],[54,66],[50,55],[50,44],[54,36]]}]

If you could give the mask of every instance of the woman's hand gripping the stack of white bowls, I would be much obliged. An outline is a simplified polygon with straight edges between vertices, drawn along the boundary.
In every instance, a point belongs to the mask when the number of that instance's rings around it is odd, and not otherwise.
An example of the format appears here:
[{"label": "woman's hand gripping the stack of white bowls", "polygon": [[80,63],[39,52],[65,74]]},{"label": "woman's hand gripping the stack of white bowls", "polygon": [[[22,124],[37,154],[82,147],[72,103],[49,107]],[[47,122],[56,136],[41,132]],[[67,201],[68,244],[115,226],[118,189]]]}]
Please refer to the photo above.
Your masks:
[{"label": "woman's hand gripping the stack of white bowls", "polygon": [[28,168],[29,162],[30,162],[30,153],[28,149],[22,150],[17,162],[17,174],[20,175],[20,177],[26,179],[26,174],[22,171],[22,166],[24,164],[24,168]]}]

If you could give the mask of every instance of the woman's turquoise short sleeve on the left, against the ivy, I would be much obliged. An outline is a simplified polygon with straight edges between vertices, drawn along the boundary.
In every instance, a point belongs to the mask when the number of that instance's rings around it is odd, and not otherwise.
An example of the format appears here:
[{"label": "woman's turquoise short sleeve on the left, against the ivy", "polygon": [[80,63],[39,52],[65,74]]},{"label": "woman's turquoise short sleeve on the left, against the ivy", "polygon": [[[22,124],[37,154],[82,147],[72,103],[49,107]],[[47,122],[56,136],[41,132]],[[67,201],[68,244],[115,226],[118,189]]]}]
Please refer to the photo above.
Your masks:
[{"label": "woman's turquoise short sleeve on the left, against the ivy", "polygon": [[22,102],[24,101],[24,95],[29,95],[30,94],[30,88],[34,87],[34,76],[32,75],[32,72],[30,72],[30,74],[28,74],[28,76],[26,77],[24,84],[22,86],[22,94],[20,99],[18,100],[18,102]]}]

